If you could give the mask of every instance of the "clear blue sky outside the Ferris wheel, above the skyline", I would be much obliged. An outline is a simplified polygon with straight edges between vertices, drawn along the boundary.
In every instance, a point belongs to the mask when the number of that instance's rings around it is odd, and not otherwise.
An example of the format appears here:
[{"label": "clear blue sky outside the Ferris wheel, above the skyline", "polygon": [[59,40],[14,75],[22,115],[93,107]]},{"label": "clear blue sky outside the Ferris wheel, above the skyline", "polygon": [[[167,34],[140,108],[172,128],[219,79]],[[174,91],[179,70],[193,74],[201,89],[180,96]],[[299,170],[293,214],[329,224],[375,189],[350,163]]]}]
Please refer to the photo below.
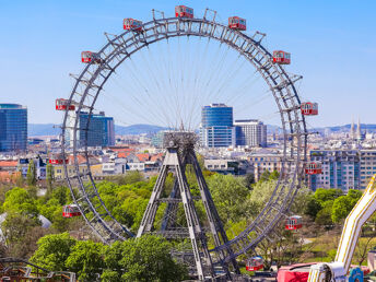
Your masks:
[{"label": "clear blue sky outside the Ferris wheel, above the skyline", "polygon": [[[68,74],[82,70],[81,50],[99,49],[106,43],[104,32],[121,33],[124,17],[148,21],[153,8],[173,16],[175,4],[167,0],[0,0],[0,102],[26,105],[30,122],[60,122],[55,98],[69,96],[72,80]],[[270,50],[291,51],[293,63],[287,71],[304,75],[303,99],[319,103],[320,115],[309,119],[309,125],[343,125],[352,117],[376,124],[375,1],[204,0],[183,4],[192,7],[196,16],[202,16],[207,7],[216,10],[222,22],[228,15],[243,16],[250,34],[267,33],[265,44]],[[242,118],[259,116],[255,110]],[[130,122],[138,121],[145,122]]]}]

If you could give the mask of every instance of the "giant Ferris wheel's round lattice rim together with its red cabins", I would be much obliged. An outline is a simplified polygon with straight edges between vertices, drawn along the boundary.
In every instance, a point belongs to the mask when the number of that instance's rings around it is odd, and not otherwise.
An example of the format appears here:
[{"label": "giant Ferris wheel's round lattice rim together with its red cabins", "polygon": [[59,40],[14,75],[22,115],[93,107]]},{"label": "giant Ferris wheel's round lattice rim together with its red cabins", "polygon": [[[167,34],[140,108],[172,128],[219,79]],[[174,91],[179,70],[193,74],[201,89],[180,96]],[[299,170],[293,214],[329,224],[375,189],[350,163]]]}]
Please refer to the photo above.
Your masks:
[{"label": "giant Ferris wheel's round lattice rim together with its red cabins", "polygon": [[[134,236],[129,226],[124,226],[115,219],[98,193],[87,144],[90,117],[96,110],[96,102],[106,82],[122,63],[142,49],[175,37],[208,38],[237,52],[262,78],[277,105],[283,137],[280,177],[265,208],[235,238],[210,250],[219,252],[231,246],[233,251],[224,258],[225,262],[230,262],[248,250],[255,250],[278,223],[289,216],[290,205],[304,178],[302,176],[319,173],[319,164],[307,165],[306,157],[308,131],[305,117],[318,114],[317,104],[301,102],[295,83],[302,77],[289,74],[284,69],[284,64],[291,63],[290,54],[282,50],[270,52],[263,46],[266,35],[260,32],[247,35],[246,20],[232,16],[228,24],[222,24],[215,21],[216,12],[207,9],[203,17],[199,19],[193,17],[193,9],[188,7],[177,7],[175,15],[164,17],[162,13],[161,17],[156,17],[153,11],[153,20],[146,23],[126,19],[121,34],[105,34],[108,43],[101,50],[82,52],[85,68],[74,77],[75,83],[69,99],[58,99],[56,105],[57,109],[64,110],[61,160],[58,162],[64,166],[74,201],[66,212],[67,216],[81,214],[95,235],[106,244]],[[79,121],[81,111],[87,113],[85,122]],[[83,138],[79,139],[80,134]],[[68,172],[68,156],[73,160],[73,173]],[[80,168],[82,158],[85,160],[85,169]],[[290,228],[294,227],[290,225]]]}]

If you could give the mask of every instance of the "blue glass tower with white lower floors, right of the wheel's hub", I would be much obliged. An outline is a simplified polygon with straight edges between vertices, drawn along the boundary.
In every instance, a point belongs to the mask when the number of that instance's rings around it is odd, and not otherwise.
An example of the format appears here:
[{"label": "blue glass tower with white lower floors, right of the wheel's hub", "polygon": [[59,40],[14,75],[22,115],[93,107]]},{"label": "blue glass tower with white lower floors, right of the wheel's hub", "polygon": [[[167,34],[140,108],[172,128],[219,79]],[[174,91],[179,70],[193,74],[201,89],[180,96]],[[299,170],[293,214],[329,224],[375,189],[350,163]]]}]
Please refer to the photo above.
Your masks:
[{"label": "blue glass tower with white lower floors, right of the wheel's hub", "polygon": [[235,146],[233,107],[211,104],[201,109],[200,142],[202,146]]}]

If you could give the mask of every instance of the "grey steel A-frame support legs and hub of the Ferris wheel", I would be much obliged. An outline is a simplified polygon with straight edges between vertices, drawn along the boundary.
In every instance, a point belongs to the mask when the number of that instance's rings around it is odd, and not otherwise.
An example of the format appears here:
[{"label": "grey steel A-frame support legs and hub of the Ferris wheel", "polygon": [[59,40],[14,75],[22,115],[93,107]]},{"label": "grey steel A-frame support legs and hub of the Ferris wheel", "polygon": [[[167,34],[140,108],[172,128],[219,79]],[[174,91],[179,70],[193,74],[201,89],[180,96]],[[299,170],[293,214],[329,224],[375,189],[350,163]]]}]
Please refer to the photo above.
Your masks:
[{"label": "grey steel A-frame support legs and hub of the Ferris wheel", "polygon": [[[204,280],[205,277],[216,277],[216,273],[214,271],[211,255],[209,254],[207,234],[201,227],[200,219],[197,215],[195,207],[195,200],[186,179],[186,167],[188,164],[193,167],[200,190],[200,200],[204,207],[210,233],[215,246],[220,247],[228,242],[228,239],[195,154],[195,137],[196,134],[193,132],[177,131],[165,133],[165,142],[169,144],[166,149],[167,152],[160,175],[154,185],[137,236],[140,237],[143,234],[156,233],[168,238],[189,237],[198,278]],[[169,197],[163,199],[161,197],[169,172],[174,173],[175,183]],[[155,215],[161,202],[167,202],[167,207],[164,211],[162,228],[155,231]],[[186,234],[181,232],[181,227],[176,228],[176,212],[179,202],[181,202],[185,211],[188,236],[185,236]],[[228,246],[226,249],[220,250],[215,255],[219,258],[219,265],[222,267],[222,270],[224,270],[227,278],[231,279],[231,273],[225,262],[225,258],[233,255],[231,247]],[[231,262],[234,270],[239,273],[236,259],[233,258]]]}]

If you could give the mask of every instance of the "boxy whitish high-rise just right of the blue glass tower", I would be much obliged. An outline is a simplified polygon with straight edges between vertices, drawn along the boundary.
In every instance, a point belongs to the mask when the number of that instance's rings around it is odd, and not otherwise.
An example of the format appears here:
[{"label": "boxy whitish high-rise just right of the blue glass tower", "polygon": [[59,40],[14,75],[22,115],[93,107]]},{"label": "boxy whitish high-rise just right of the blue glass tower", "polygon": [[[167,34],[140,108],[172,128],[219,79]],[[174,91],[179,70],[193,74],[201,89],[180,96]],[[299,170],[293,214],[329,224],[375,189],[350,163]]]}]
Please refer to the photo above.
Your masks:
[{"label": "boxy whitish high-rise just right of the blue glass tower", "polygon": [[236,145],[267,146],[267,126],[257,119],[235,120]]}]

